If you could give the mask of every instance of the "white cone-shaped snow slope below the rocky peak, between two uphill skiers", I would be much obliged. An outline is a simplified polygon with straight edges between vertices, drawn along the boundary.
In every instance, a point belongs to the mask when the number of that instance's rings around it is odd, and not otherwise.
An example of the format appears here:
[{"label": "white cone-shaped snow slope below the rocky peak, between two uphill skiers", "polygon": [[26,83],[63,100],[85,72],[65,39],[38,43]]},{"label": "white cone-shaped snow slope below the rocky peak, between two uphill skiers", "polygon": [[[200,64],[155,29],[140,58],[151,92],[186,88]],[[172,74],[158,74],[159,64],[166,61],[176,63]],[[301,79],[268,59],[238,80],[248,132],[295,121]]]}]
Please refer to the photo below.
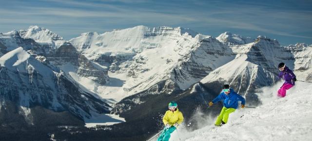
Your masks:
[{"label": "white cone-shaped snow slope below the rocky peak, between two uphill skiers", "polygon": [[[234,67],[236,66],[236,67]],[[230,84],[236,92],[246,97],[249,103],[257,103],[254,95],[256,88],[270,86],[277,81],[274,73],[264,69],[262,66],[248,61],[248,55],[237,55],[231,62],[212,71],[200,82],[206,85],[218,82],[218,85]]]}]

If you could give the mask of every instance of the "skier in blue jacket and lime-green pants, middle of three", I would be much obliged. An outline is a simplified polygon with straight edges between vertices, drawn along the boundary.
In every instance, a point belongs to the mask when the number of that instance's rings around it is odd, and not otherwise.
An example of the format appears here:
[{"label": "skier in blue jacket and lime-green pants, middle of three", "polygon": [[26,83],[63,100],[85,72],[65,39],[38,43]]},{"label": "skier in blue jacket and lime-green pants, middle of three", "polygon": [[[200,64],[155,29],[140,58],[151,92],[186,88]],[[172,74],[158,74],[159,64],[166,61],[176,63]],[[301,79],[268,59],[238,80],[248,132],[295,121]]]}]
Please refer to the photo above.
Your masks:
[{"label": "skier in blue jacket and lime-green pants, middle of three", "polygon": [[221,126],[221,123],[228,122],[229,114],[237,109],[238,101],[241,101],[242,108],[245,107],[245,98],[237,94],[229,85],[223,86],[222,92],[213,101],[209,102],[209,106],[220,100],[223,100],[223,108],[215,121],[215,126]]}]

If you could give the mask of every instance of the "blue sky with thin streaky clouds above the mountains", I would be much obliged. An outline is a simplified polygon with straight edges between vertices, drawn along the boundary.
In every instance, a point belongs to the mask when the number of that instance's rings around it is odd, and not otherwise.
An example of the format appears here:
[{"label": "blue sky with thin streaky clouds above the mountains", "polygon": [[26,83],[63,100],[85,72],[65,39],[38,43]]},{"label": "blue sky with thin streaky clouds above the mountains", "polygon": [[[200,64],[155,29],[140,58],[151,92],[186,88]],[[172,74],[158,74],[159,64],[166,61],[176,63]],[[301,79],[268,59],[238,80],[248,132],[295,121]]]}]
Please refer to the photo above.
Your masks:
[{"label": "blue sky with thin streaky clouds above the mountains", "polygon": [[145,25],[312,44],[312,0],[0,0],[0,32],[30,25],[67,40]]}]

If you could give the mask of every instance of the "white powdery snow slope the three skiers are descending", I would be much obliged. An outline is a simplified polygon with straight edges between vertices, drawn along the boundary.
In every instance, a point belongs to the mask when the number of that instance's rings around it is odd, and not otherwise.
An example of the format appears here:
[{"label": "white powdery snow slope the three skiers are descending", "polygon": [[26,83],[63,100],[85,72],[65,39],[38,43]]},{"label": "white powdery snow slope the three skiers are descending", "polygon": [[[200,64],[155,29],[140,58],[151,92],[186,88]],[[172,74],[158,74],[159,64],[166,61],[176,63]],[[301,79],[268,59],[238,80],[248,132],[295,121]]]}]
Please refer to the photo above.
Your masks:
[{"label": "white powdery snow slope the three skiers are descending", "polygon": [[296,82],[286,97],[278,98],[276,92],[281,85],[261,88],[263,92],[258,95],[263,105],[238,108],[227,124],[215,127],[216,117],[201,119],[197,122],[206,126],[193,132],[181,126],[169,141],[311,141],[312,84]]}]

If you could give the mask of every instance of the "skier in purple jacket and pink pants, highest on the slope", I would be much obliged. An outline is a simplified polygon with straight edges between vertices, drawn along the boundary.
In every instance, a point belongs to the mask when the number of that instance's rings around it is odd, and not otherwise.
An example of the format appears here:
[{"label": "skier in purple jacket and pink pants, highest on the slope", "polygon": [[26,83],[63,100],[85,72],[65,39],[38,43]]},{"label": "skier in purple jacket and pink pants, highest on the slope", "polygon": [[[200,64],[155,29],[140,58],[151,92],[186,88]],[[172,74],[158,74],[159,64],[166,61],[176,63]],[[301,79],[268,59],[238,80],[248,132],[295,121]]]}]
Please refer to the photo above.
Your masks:
[{"label": "skier in purple jacket and pink pants, highest on the slope", "polygon": [[286,96],[286,90],[292,88],[294,86],[294,82],[297,81],[296,75],[293,74],[292,70],[290,70],[288,67],[286,67],[285,63],[279,63],[278,64],[279,78],[283,78],[285,80],[283,86],[278,89],[277,96],[279,97],[285,97]]}]

